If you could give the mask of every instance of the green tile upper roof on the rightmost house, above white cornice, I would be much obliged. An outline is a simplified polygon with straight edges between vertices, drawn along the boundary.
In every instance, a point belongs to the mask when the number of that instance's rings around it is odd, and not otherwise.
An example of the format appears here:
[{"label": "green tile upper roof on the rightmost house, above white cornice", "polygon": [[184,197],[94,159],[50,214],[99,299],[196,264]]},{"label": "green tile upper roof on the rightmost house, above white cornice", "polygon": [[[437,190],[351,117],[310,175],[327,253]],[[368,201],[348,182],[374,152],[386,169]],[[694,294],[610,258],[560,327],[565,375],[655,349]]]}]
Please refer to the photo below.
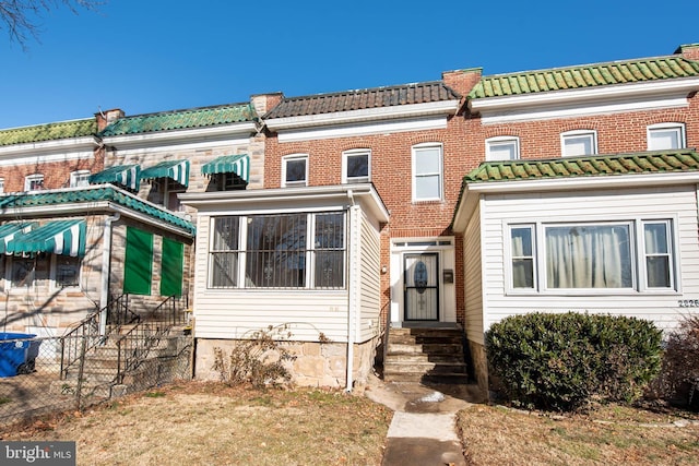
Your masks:
[{"label": "green tile upper roof on the rightmost house, above white cornice", "polygon": [[645,58],[483,76],[469,94],[469,98],[516,96],[692,76],[699,76],[699,61],[679,56]]}]

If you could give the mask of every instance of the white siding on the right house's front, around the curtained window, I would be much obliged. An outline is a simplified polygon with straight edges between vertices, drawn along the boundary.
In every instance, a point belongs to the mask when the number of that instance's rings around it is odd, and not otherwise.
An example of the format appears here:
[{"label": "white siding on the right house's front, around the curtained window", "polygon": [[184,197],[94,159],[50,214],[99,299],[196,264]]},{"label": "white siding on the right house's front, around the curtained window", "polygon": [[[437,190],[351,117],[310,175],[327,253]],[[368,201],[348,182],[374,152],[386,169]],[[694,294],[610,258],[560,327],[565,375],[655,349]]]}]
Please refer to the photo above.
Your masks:
[{"label": "white siding on the right house's front, around the curtained window", "polygon": [[[542,211],[542,205],[546,210]],[[485,196],[483,201],[482,241],[484,255],[485,327],[500,319],[532,311],[611,312],[650,319],[662,326],[673,326],[683,310],[682,299],[699,299],[699,240],[697,237],[697,201],[694,187],[627,189],[594,193],[540,193]],[[558,290],[547,294],[509,290],[509,260],[503,256],[509,240],[509,225],[542,222],[605,223],[629,218],[644,223],[672,219],[674,258],[678,282],[674,289],[640,290]],[[655,219],[655,220],[654,220]],[[469,236],[470,238],[472,236]],[[466,244],[469,242],[466,241]],[[647,255],[651,255],[650,253]],[[660,253],[662,258],[662,251]],[[643,259],[641,259],[643,260]],[[543,266],[537,261],[537,266]],[[472,299],[467,297],[466,301]]]}]

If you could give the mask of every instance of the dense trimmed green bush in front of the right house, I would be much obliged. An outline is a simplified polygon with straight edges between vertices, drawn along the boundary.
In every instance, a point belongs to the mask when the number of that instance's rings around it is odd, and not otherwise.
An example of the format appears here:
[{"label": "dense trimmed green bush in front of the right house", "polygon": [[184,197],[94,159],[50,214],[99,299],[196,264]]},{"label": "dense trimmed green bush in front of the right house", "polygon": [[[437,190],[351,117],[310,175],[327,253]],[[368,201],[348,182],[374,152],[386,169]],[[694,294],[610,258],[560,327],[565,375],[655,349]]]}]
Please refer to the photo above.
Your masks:
[{"label": "dense trimmed green bush in front of the right house", "polygon": [[574,410],[592,399],[639,397],[659,371],[661,335],[635,318],[535,312],[491,325],[485,346],[510,401]]}]

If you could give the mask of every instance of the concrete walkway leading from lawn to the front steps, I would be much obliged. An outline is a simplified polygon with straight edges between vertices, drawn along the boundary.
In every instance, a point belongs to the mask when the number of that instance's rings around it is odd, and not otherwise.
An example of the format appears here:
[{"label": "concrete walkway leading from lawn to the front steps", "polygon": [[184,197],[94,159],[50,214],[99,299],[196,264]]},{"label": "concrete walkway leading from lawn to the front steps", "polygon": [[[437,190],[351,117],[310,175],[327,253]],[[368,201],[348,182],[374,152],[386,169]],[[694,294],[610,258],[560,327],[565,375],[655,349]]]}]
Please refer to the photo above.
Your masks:
[{"label": "concrete walkway leading from lawn to the front steps", "polygon": [[425,386],[371,377],[365,395],[394,411],[382,466],[465,466],[455,415],[483,402],[475,385]]}]

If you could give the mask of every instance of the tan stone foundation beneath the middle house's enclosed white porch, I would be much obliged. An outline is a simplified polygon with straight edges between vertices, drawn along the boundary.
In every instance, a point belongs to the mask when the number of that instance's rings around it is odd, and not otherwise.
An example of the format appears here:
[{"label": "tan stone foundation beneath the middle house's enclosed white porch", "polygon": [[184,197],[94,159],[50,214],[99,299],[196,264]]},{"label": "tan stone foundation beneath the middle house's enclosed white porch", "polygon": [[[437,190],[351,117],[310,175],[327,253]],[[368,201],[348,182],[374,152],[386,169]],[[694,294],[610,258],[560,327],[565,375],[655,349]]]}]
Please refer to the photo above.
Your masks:
[{"label": "tan stone foundation beneath the middle house's enclosed white porch", "polygon": [[[229,355],[236,345],[234,339],[198,338],[194,355],[194,378],[220,380],[221,374],[213,369],[214,349]],[[354,345],[353,386],[363,386],[374,367],[379,338]],[[292,382],[300,386],[328,386],[344,389],[347,377],[347,344],[318,342],[284,342],[284,348],[295,357],[287,361]]]}]

